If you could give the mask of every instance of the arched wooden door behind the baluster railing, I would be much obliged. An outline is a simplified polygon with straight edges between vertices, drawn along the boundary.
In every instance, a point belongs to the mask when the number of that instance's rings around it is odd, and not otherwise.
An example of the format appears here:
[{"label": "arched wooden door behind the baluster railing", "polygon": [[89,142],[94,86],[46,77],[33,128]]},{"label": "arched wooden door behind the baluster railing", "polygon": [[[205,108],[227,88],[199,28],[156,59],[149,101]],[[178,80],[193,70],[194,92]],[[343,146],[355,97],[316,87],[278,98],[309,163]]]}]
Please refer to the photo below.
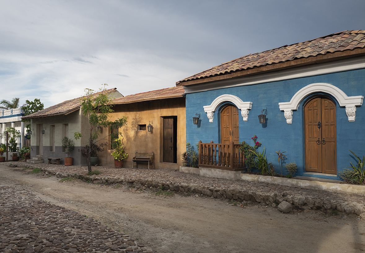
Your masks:
[{"label": "arched wooden door behind the baluster railing", "polygon": [[226,106],[220,111],[220,138],[221,143],[229,144],[232,141],[239,143],[239,110],[235,106]]}]

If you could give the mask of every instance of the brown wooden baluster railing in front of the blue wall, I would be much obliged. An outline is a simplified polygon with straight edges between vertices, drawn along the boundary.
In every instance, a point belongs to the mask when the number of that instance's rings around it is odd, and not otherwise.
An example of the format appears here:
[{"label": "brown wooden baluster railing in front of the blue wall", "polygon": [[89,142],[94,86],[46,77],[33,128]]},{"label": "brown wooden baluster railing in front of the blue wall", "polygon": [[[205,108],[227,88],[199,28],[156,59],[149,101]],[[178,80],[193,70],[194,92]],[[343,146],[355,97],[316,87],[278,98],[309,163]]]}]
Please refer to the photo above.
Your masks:
[{"label": "brown wooden baluster railing in front of the blue wall", "polygon": [[245,156],[240,144],[202,143],[199,141],[199,167],[225,170],[245,169]]}]

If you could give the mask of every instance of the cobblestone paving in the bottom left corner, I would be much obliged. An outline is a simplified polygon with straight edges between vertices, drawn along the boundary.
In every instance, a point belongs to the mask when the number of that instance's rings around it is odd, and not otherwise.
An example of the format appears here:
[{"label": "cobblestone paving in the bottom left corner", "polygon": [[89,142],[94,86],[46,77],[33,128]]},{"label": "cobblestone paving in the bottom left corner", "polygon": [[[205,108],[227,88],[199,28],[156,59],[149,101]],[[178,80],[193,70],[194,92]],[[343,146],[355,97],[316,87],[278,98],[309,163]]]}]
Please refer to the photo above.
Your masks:
[{"label": "cobblestone paving in the bottom left corner", "polygon": [[22,189],[1,185],[0,203],[0,251],[4,253],[156,252]]}]

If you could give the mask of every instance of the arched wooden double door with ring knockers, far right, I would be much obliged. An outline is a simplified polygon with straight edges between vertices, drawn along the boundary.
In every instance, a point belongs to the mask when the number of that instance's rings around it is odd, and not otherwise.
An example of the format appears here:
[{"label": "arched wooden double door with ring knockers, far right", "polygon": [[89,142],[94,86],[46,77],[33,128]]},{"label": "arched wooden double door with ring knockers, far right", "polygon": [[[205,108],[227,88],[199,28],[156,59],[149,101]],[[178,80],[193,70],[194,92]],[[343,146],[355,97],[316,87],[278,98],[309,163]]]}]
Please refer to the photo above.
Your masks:
[{"label": "arched wooden double door with ring knockers, far right", "polygon": [[336,105],[315,97],[304,106],[306,171],[337,174]]}]

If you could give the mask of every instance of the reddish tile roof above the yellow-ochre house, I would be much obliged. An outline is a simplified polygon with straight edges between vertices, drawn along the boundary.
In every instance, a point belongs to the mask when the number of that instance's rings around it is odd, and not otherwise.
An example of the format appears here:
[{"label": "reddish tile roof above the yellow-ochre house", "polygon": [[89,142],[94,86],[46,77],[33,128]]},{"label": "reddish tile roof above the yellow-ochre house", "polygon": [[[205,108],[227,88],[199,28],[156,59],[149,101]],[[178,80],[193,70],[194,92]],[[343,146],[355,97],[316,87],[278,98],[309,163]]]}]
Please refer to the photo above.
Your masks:
[{"label": "reddish tile roof above the yellow-ochre house", "polygon": [[133,95],[128,95],[125,97],[119,97],[113,100],[115,104],[128,104],[139,101],[148,101],[156,99],[168,99],[172,97],[183,97],[184,87],[171,87],[166,89],[159,89],[156,91],[148,91]]}]

